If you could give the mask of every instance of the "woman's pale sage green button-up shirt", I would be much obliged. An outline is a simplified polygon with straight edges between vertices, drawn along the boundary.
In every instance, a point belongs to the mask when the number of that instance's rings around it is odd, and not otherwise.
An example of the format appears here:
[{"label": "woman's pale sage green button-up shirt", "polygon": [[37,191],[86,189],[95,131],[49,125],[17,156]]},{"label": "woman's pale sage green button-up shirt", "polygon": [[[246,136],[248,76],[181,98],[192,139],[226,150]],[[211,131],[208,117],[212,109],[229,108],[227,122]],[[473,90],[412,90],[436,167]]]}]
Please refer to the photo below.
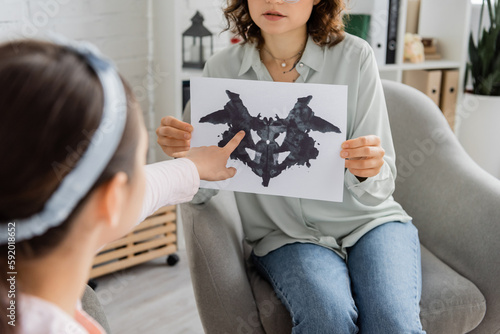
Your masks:
[{"label": "woman's pale sage green button-up shirt", "polygon": [[[376,226],[411,221],[392,197],[396,157],[377,64],[368,43],[346,34],[331,48],[320,47],[309,38],[296,68],[298,83],[348,86],[347,139],[379,136],[384,164],[379,174],[363,182],[346,169],[341,203],[236,192],[245,237],[259,256],[288,243],[308,242],[346,257],[345,249]],[[273,80],[250,43],[215,54],[206,63],[204,76]],[[198,197],[206,200],[206,194]]]}]

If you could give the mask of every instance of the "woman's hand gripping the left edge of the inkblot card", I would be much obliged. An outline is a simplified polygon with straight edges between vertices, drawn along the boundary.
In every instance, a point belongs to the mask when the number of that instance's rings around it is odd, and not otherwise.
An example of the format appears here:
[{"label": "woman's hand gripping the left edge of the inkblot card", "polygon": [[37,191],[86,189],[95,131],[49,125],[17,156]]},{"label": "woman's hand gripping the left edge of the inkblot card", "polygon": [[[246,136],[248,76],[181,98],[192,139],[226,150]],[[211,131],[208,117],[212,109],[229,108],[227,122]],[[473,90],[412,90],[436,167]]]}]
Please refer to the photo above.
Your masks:
[{"label": "woman's hand gripping the left edge of the inkblot card", "polygon": [[189,123],[167,116],[161,119],[161,125],[156,129],[158,144],[163,152],[174,157],[175,153],[186,152],[191,148],[191,132],[193,126]]}]

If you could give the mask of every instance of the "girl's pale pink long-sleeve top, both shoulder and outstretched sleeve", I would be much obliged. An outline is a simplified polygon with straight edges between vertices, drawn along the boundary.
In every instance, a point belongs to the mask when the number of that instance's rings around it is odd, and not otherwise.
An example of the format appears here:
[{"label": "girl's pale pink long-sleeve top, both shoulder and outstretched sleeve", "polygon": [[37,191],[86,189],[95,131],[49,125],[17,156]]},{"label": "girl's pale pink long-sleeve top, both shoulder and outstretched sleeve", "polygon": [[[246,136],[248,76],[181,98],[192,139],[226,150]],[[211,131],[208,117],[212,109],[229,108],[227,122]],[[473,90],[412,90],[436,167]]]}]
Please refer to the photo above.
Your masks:
[{"label": "girl's pale pink long-sleeve top, both shoulder and outstretched sleeve", "polygon": [[[190,201],[198,191],[200,177],[188,159],[163,161],[145,166],[146,193],[138,223],[160,207]],[[20,294],[21,334],[106,334],[81,307],[72,316],[57,305],[28,294]]]}]

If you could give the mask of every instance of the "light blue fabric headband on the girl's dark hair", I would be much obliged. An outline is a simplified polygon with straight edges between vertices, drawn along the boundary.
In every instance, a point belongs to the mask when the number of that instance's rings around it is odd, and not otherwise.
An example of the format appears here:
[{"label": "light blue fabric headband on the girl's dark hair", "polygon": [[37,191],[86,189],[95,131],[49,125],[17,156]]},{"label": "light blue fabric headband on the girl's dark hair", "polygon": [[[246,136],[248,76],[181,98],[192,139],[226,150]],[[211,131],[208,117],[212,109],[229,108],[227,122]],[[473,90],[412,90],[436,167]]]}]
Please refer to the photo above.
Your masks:
[{"label": "light blue fabric headband on the girl's dark hair", "polygon": [[[43,210],[29,218],[11,221],[15,222],[16,242],[43,235],[69,217],[113,157],[123,136],[127,119],[125,89],[114,64],[90,43],[73,42],[60,36],[51,36],[51,40],[81,55],[95,71],[104,93],[104,108],[101,122],[88,148],[75,168],[66,175],[45,203]],[[0,224],[0,245],[12,241],[8,239],[7,224]]]}]

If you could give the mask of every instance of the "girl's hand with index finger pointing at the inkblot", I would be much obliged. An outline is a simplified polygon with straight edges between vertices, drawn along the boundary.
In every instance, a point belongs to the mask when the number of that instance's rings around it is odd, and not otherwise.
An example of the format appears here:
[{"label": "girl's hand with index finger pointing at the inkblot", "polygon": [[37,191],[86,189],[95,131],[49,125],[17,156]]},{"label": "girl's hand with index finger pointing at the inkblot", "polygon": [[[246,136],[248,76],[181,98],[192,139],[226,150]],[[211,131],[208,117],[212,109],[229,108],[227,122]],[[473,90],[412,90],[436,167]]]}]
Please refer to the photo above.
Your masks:
[{"label": "girl's hand with index finger pointing at the inkblot", "polygon": [[200,179],[206,181],[222,181],[236,175],[236,169],[226,168],[227,160],[245,137],[245,132],[240,131],[226,146],[193,147],[189,151],[176,152],[174,158],[188,158],[198,168]]}]

